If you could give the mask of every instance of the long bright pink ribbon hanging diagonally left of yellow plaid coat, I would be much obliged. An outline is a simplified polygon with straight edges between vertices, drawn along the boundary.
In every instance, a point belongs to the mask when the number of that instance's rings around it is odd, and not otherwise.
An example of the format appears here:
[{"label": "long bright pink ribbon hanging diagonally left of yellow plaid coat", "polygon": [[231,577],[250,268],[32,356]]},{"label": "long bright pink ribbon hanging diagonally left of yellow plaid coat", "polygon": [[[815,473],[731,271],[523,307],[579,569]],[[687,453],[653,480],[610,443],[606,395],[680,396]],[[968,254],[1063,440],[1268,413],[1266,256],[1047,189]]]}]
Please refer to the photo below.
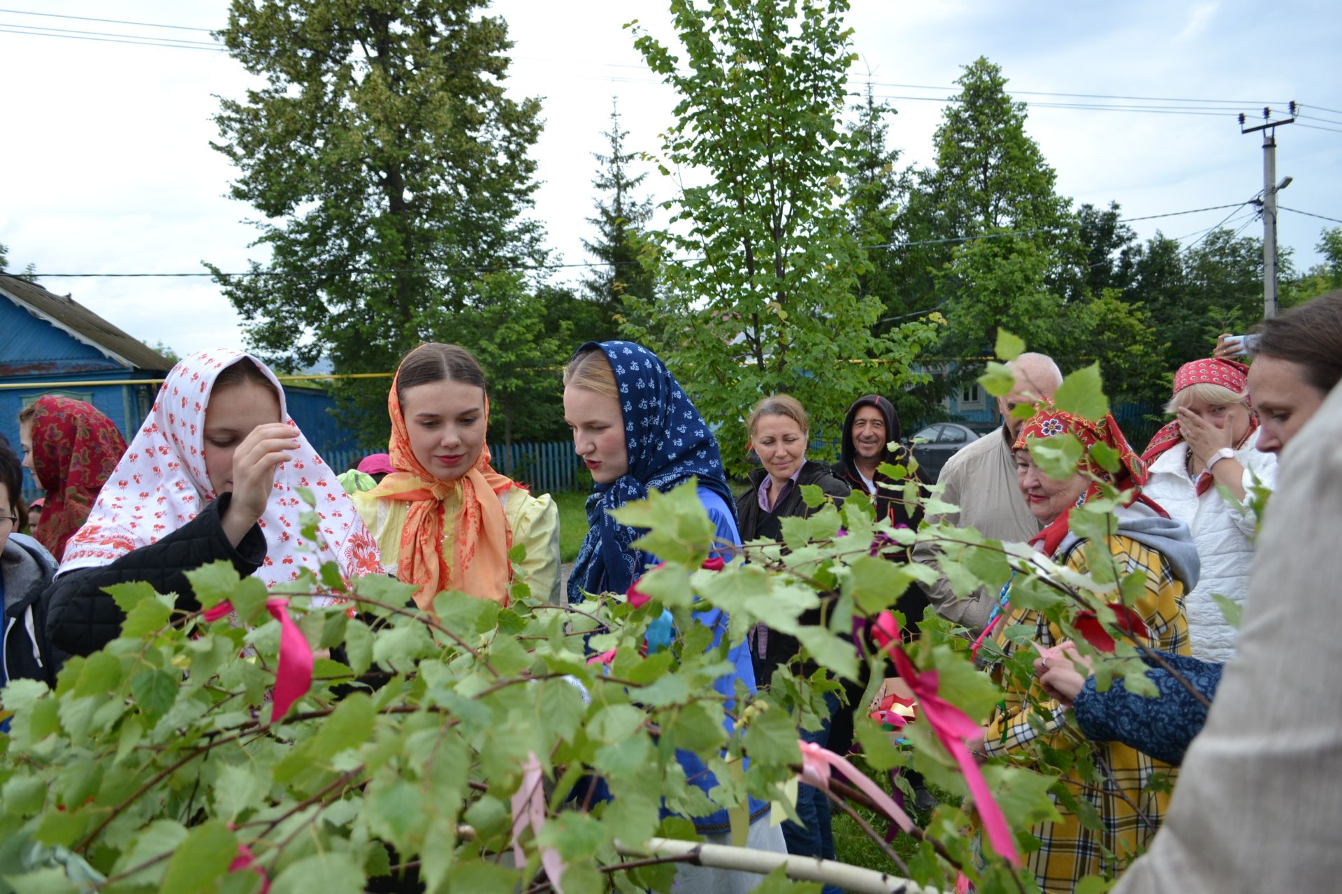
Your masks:
[{"label": "long bright pink ribbon hanging diagonally left of yellow plaid coat", "polygon": [[1011,836],[1007,818],[1002,816],[1001,807],[997,806],[988,789],[988,780],[984,779],[978,763],[969,753],[969,745],[965,744],[966,740],[981,736],[982,728],[960,708],[937,694],[935,670],[919,672],[914,667],[914,662],[909,659],[903,646],[899,645],[899,622],[892,614],[882,611],[871,635],[880,651],[890,654],[891,661],[895,662],[895,672],[913,690],[922,720],[931,726],[938,741],[950,752],[950,756],[960,764],[961,772],[965,773],[965,783],[969,785],[974,808],[978,811],[978,818],[984,823],[984,831],[988,834],[993,850],[1008,863],[1019,867],[1021,865],[1020,855],[1016,852],[1016,842]]}]

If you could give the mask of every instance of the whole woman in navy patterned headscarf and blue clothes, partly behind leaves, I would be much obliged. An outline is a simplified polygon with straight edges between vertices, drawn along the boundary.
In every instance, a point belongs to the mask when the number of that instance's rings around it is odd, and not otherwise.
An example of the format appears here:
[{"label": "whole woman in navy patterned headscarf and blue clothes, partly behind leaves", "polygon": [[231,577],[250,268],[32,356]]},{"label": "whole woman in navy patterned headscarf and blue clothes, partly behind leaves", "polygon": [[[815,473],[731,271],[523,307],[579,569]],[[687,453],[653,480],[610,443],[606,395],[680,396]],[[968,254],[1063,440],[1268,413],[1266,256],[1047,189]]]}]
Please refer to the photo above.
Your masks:
[{"label": "whole woman in navy patterned headscarf and blue clothes, partly behind leaves", "polygon": [[[648,491],[671,488],[698,478],[699,500],[715,527],[715,541],[741,546],[731,489],[722,470],[718,441],[675,377],[656,354],[633,342],[588,342],[564,370],[564,418],[573,429],[573,448],[592,472],[595,485],[588,497],[586,539],[569,579],[569,600],[586,592],[624,592],[656,559],[631,544],[639,532],[619,524],[608,513],[631,500],[644,500]],[[727,556],[730,558],[730,556]],[[713,631],[710,649],[717,649],[727,629],[721,609],[696,611],[695,621]],[[670,627],[670,613],[664,615]],[[658,622],[654,622],[654,627]],[[648,631],[654,645],[652,629]],[[754,670],[745,642],[727,651],[733,673],[723,674],[714,688],[726,697],[730,710],[737,681],[754,692]],[[726,721],[729,729],[730,718]],[[686,779],[705,793],[718,780],[694,752],[678,749],[676,761]],[[662,815],[670,812],[662,807]],[[694,828],[707,840],[729,844],[730,820],[726,810],[692,816]],[[782,854],[782,831],[769,822],[769,804],[750,797],[750,831],[746,846]],[[760,878],[749,873],[680,865],[675,890],[747,891]]]}]

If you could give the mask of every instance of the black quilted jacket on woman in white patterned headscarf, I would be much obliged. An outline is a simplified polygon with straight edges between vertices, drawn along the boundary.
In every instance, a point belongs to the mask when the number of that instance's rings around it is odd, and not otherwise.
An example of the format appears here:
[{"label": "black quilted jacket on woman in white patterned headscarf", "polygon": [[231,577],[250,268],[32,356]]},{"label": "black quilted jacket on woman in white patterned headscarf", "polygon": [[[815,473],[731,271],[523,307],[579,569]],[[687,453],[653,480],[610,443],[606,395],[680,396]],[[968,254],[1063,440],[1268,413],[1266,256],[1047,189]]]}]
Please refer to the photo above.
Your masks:
[{"label": "black quilted jacket on woman in white patterned headscarf", "polygon": [[252,525],[236,548],[228,543],[220,516],[231,497],[220,495],[158,543],[127,552],[111,564],[59,574],[43,596],[48,639],[76,655],[98,651],[115,639],[125,615],[102,591],[114,583],[144,580],[158,592],[176,592],[177,607],[195,611],[200,603],[187,580],[188,571],[224,559],[238,574],[254,574],[266,560],[266,535],[260,525]]}]

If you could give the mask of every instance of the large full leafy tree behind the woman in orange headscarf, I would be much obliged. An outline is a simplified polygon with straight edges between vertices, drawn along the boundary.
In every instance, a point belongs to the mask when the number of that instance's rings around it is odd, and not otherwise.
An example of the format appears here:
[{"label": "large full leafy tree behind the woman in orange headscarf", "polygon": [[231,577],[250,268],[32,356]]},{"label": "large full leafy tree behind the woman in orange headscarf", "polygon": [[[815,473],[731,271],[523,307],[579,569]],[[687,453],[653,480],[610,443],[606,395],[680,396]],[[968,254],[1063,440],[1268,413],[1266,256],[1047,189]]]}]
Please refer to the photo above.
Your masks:
[{"label": "large full leafy tree behind the woman in orange headscarf", "polygon": [[[364,373],[425,340],[495,346],[486,275],[542,257],[526,217],[541,122],[538,101],[506,94],[507,27],[480,5],[234,0],[219,36],[262,84],[220,101],[213,146],[268,259],[211,269],[263,354]],[[370,441],[385,386],[340,391],[369,410],[353,418]]]}]

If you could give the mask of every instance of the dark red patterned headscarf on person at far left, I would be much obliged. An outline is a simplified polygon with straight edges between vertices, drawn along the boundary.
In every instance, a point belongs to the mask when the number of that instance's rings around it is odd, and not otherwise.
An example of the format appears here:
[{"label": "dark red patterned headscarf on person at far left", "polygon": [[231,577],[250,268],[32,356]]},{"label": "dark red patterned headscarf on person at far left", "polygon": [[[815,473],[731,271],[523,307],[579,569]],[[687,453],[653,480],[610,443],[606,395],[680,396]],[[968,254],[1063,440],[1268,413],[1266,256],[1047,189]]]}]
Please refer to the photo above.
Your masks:
[{"label": "dark red patterned headscarf on person at far left", "polygon": [[32,472],[47,493],[32,535],[56,560],[125,452],[121,432],[89,403],[55,394],[34,403]]}]

